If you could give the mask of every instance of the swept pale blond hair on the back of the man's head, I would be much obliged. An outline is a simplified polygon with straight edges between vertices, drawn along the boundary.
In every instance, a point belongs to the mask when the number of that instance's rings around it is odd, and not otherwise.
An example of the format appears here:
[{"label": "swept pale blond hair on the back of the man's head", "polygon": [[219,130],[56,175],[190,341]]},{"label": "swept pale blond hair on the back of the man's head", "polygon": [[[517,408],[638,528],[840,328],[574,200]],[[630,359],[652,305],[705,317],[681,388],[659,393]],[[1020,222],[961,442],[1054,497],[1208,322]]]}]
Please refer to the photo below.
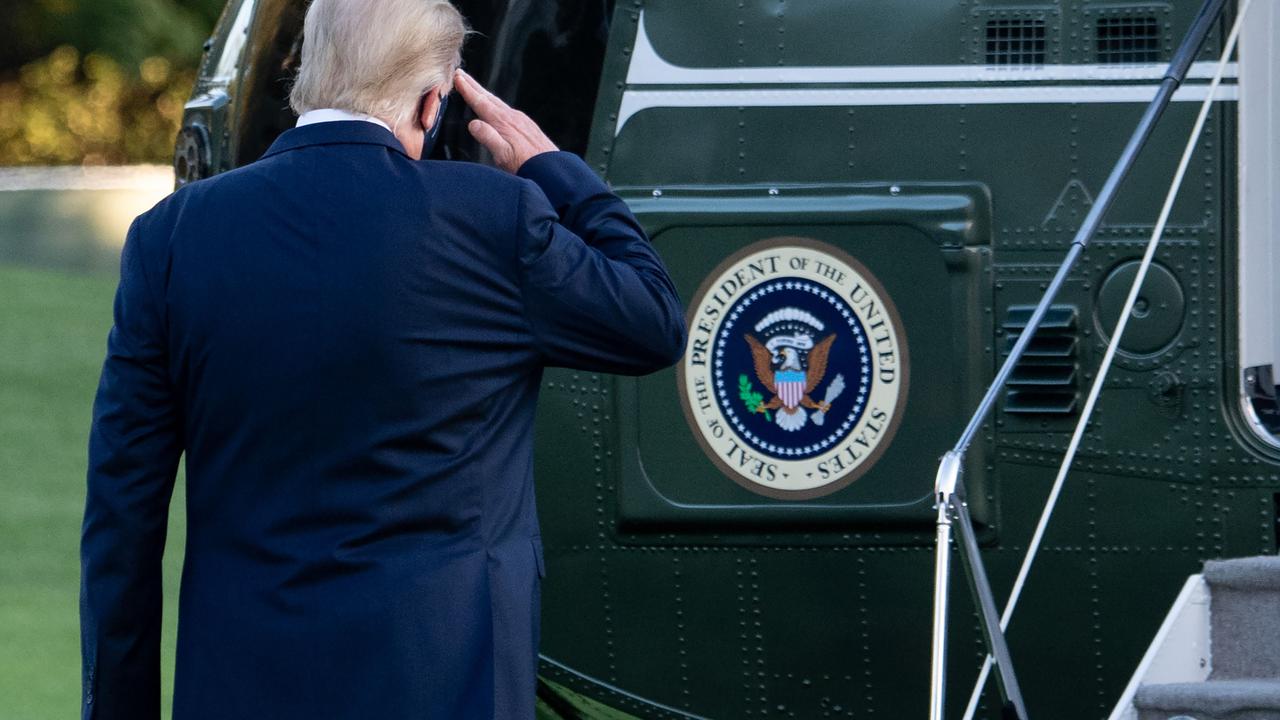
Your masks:
[{"label": "swept pale blond hair on the back of the man's head", "polygon": [[335,108],[399,127],[424,92],[451,86],[467,32],[448,0],[314,0],[289,105],[300,115]]}]

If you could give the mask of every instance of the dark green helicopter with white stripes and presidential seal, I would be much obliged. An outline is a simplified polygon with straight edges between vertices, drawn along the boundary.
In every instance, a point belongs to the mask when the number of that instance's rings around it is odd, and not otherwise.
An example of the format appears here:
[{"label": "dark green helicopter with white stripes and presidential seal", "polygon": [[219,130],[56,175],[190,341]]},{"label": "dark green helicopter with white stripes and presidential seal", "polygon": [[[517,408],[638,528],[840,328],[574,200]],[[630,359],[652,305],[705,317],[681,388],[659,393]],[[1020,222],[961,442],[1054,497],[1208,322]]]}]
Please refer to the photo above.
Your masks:
[{"label": "dark green helicopter with white stripes and presidential seal", "polygon": [[[545,374],[545,716],[923,715],[938,459],[1019,340],[957,465],[1001,597],[1115,345],[1007,628],[1028,715],[1108,716],[1189,574],[1276,553],[1275,3],[1222,61],[1229,22],[1207,31],[1038,318],[1198,4],[454,4],[468,73],[628,202],[687,307],[676,368]],[[305,10],[228,3],[179,184],[293,126]],[[449,106],[435,159],[492,163],[467,119]],[[947,584],[964,685],[989,648]],[[1007,712],[995,684],[973,697]]]}]

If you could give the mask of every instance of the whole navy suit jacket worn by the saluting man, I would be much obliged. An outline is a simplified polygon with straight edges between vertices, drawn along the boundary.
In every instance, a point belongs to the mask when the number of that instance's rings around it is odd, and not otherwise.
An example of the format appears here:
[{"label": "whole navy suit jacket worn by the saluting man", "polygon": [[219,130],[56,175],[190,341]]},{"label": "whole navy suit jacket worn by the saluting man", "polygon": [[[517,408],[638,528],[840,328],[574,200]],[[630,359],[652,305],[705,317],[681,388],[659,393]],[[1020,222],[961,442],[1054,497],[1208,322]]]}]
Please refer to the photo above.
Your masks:
[{"label": "whole navy suit jacket worn by the saluting man", "polygon": [[83,717],[160,716],[183,454],[175,720],[532,717],[541,370],[649,373],[685,337],[570,154],[516,177],[320,123],[178,190],[129,229],[93,406]]}]

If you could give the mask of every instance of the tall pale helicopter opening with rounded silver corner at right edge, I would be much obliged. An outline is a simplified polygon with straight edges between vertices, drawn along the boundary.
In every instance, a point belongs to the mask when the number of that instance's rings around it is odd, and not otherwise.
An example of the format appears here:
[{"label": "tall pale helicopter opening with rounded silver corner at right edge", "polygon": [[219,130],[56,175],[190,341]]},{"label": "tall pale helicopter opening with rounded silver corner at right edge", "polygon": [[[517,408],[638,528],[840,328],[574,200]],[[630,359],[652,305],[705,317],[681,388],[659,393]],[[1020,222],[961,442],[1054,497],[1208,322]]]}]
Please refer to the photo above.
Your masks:
[{"label": "tall pale helicopter opening with rounded silver corner at right edge", "polygon": [[1280,446],[1280,6],[1253,10],[1239,51],[1239,380],[1249,424]]}]

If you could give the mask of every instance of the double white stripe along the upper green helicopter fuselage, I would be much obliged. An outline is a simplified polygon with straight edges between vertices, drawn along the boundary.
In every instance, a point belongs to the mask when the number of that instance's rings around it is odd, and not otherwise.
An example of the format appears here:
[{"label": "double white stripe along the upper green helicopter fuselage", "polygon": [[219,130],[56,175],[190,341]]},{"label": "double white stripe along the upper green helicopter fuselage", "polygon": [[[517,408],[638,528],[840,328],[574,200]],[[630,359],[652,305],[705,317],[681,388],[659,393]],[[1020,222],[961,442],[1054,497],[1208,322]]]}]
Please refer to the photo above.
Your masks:
[{"label": "double white stripe along the upper green helicopter fuselage", "polygon": [[[1194,63],[1188,79],[1212,76],[1216,63]],[[636,113],[655,108],[847,108],[910,105],[1018,105],[1074,102],[1149,102],[1166,65],[859,65],[686,68],[658,55],[645,26],[636,32],[614,135]],[[1234,78],[1238,65],[1228,65]],[[1062,82],[1121,82],[1125,85],[1053,85]],[[1135,81],[1149,81],[1137,85]],[[1009,83],[1039,85],[1009,85]],[[911,85],[968,83],[952,87],[768,87],[778,85]],[[671,88],[671,86],[719,86]],[[726,85],[765,86],[728,90]],[[646,86],[667,86],[658,90]],[[1175,102],[1204,100],[1206,85],[1183,86]],[[1215,100],[1235,100],[1236,86],[1224,85]]]}]

